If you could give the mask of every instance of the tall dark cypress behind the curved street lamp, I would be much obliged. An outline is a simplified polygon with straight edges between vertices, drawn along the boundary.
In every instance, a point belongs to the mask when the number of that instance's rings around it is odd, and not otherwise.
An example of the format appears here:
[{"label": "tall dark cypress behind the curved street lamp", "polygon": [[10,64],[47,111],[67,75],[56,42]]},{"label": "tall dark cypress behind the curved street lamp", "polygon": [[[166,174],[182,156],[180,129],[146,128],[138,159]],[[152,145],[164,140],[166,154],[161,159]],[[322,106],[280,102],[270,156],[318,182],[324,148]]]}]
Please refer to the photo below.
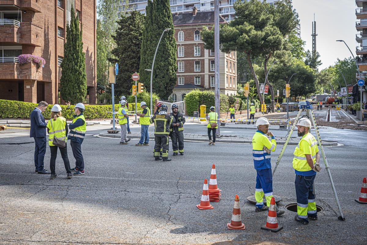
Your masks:
[{"label": "tall dark cypress behind the curved street lamp", "polygon": [[146,21],[143,31],[140,53],[140,81],[150,90],[150,69],[154,53],[165,29],[171,28],[162,36],[153,68],[153,92],[166,99],[172,94],[176,85],[176,40],[169,0],[149,0],[146,7]]}]

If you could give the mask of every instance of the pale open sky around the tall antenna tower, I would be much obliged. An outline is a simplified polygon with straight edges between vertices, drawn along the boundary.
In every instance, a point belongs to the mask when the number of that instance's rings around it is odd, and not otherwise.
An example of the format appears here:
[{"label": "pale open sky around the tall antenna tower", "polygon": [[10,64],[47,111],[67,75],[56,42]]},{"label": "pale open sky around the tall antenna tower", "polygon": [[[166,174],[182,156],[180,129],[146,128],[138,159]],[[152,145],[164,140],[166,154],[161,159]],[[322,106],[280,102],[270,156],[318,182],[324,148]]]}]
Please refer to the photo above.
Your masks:
[{"label": "pale open sky around the tall antenna tower", "polygon": [[333,65],[337,58],[352,56],[344,40],[356,56],[356,3],[353,0],[293,0],[299,15],[301,38],[306,41],[305,50],[312,50],[312,21],[316,20],[316,50],[323,63],[319,70]]}]

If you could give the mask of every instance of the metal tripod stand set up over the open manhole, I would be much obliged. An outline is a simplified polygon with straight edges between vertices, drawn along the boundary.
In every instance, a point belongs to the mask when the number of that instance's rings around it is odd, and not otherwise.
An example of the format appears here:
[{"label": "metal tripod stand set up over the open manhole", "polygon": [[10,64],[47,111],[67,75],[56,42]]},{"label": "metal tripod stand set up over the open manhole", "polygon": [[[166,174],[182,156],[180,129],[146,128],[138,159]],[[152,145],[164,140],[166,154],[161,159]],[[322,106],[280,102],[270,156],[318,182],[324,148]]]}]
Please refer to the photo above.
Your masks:
[{"label": "metal tripod stand set up over the open manhole", "polygon": [[[340,216],[338,217],[338,219],[339,219],[339,220],[343,220],[343,221],[344,221],[344,220],[345,220],[345,218],[344,218],[344,215],[343,215],[343,212],[342,212],[342,208],[341,208],[340,203],[339,203],[339,199],[338,199],[337,191],[335,190],[333,177],[331,177],[330,166],[329,166],[329,164],[327,163],[327,159],[326,159],[325,152],[324,152],[324,147],[323,147],[322,142],[321,142],[319,129],[317,128],[317,124],[316,124],[316,120],[315,120],[315,115],[313,114],[312,109],[300,109],[300,110],[298,111],[297,117],[295,118],[294,123],[293,123],[293,125],[292,125],[292,127],[291,127],[291,130],[290,130],[290,132],[289,132],[289,133],[288,133],[288,135],[287,135],[287,140],[286,140],[286,142],[284,143],[283,148],[281,149],[281,152],[280,152],[280,154],[279,154],[279,156],[278,156],[278,159],[276,160],[276,165],[275,165],[275,167],[274,167],[274,169],[273,169],[273,173],[272,173],[272,175],[273,175],[273,177],[274,177],[275,171],[276,171],[276,169],[277,169],[277,167],[278,167],[278,165],[279,165],[279,162],[280,162],[280,160],[281,160],[281,157],[283,156],[284,150],[286,150],[286,147],[287,147],[287,145],[288,145],[288,142],[289,142],[289,140],[290,140],[290,138],[291,138],[291,136],[292,136],[293,130],[294,130],[294,128],[295,128],[295,126],[296,126],[296,124],[297,124],[297,122],[298,122],[298,120],[299,120],[299,118],[300,118],[300,116],[301,116],[302,111],[305,111],[305,115],[304,115],[304,116],[302,116],[302,117],[308,117],[308,118],[312,121],[313,127],[314,127],[315,132],[316,132],[316,139],[317,139],[317,143],[318,143],[318,145],[320,146],[321,155],[322,155],[323,160],[324,160],[325,169],[326,169],[326,171],[327,171],[327,173],[328,173],[328,176],[329,176],[329,180],[330,180],[331,188],[333,189],[333,193],[334,193],[334,197],[335,197],[335,202],[337,203],[337,206],[338,206],[338,209],[339,209],[339,214],[340,214]],[[314,184],[314,185],[315,185],[315,184]],[[313,188],[313,191],[315,192],[315,187]]]}]

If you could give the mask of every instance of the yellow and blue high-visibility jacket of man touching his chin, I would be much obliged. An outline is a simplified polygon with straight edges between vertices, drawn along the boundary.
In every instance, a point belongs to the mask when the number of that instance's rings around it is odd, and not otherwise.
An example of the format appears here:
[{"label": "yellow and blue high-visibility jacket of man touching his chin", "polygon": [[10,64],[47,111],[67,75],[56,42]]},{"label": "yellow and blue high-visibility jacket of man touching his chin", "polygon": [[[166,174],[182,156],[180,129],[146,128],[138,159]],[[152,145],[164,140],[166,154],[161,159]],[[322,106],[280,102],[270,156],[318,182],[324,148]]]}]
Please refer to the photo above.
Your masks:
[{"label": "yellow and blue high-visibility jacket of man touching his chin", "polygon": [[271,142],[261,131],[257,130],[252,137],[252,157],[254,158],[255,169],[271,168],[270,154],[264,150],[264,146],[274,152],[276,149],[275,137],[272,136]]}]

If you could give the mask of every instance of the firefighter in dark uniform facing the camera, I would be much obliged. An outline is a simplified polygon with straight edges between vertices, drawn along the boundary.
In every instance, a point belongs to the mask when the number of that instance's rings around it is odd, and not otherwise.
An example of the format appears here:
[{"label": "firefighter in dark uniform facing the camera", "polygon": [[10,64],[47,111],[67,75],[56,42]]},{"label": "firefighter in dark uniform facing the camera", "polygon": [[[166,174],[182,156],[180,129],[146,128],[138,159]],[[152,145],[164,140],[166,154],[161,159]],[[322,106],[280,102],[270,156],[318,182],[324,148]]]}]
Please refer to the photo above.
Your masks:
[{"label": "firefighter in dark uniform facing the camera", "polygon": [[[174,122],[171,125],[171,141],[172,141],[172,149],[173,155],[177,156],[178,152],[180,155],[183,155],[183,124],[185,123],[185,116],[183,116],[178,111],[177,104],[172,104],[172,113],[171,116],[174,118]],[[177,145],[178,142],[178,145]]]}]

